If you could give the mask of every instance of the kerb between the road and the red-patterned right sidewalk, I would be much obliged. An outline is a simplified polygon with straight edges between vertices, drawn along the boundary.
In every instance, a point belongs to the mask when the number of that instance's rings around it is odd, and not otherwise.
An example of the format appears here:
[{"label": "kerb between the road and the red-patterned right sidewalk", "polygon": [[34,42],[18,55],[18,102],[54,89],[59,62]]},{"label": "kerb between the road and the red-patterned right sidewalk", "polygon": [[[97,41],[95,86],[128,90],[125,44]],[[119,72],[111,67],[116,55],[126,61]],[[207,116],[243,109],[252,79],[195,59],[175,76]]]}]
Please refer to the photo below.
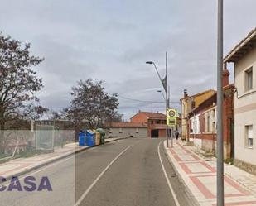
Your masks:
[{"label": "kerb between the road and the red-patterned right sidewalk", "polygon": [[175,173],[178,177],[178,179],[181,181],[181,184],[184,185],[184,188],[185,188],[185,192],[188,196],[188,198],[191,200],[191,206],[200,206],[199,202],[196,200],[195,196],[191,193],[191,189],[188,188],[188,186],[186,185],[186,182],[185,180],[183,180],[183,178],[181,177],[181,174],[178,172],[178,170],[176,170],[176,167],[175,165],[173,164],[172,160],[171,160],[171,157],[168,155],[168,151],[167,151],[167,147],[165,146],[165,142],[163,142],[163,147],[164,147],[164,152],[167,156],[167,159],[169,160],[173,170],[175,170]]}]

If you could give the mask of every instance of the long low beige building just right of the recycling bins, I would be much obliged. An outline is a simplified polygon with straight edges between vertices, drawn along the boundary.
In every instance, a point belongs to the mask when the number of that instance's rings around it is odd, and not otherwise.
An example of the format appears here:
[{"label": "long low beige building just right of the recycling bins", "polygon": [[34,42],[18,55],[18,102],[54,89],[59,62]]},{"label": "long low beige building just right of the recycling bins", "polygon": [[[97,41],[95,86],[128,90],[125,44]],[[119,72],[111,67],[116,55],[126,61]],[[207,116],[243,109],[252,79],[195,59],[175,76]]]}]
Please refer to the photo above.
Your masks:
[{"label": "long low beige building just right of the recycling bins", "polygon": [[107,137],[147,137],[147,125],[134,122],[111,122],[106,125]]}]

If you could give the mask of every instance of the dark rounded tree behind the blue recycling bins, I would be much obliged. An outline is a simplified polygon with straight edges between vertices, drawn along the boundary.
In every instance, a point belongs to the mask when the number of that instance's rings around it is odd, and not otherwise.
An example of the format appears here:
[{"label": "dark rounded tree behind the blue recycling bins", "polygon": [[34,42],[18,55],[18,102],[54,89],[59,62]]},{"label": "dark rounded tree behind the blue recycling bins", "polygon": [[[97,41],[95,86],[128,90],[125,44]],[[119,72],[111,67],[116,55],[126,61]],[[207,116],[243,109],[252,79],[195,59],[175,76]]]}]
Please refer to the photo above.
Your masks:
[{"label": "dark rounded tree behind the blue recycling bins", "polygon": [[67,109],[67,117],[80,127],[103,127],[108,119],[116,115],[118,98],[104,91],[103,81],[80,80],[72,88],[73,97]]}]

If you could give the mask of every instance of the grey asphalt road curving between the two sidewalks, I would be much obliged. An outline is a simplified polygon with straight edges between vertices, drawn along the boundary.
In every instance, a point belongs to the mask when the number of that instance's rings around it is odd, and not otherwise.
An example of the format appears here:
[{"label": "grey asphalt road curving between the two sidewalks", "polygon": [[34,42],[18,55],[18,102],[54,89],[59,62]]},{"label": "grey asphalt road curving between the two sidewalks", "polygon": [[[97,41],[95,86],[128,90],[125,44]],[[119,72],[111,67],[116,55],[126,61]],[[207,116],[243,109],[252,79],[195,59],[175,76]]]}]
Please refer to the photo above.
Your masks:
[{"label": "grey asphalt road curving between the two sidewalks", "polygon": [[[30,175],[36,178],[37,186],[46,176],[52,191],[0,192],[0,205],[191,205],[163,151],[162,139],[113,141],[47,165]],[[24,177],[20,177],[22,186]]]}]

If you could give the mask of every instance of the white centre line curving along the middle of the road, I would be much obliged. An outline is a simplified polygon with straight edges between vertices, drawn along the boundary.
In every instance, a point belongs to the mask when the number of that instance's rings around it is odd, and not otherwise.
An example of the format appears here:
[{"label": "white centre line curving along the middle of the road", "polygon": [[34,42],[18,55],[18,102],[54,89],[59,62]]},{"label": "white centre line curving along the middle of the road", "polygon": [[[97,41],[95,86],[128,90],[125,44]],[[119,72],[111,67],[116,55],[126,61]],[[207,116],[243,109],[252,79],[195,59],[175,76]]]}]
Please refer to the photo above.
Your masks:
[{"label": "white centre line curving along the middle of the road", "polygon": [[94,180],[94,182],[89,185],[89,188],[85,190],[85,193],[80,196],[80,199],[77,200],[77,202],[75,203],[75,206],[80,205],[80,203],[85,199],[86,195],[89,194],[89,191],[90,191],[91,189],[93,189],[94,185],[97,184],[97,182],[98,182],[99,179],[104,175],[104,173],[105,173],[107,170],[109,170],[109,167],[110,167],[111,165],[113,165],[114,162],[115,162],[116,160],[118,160],[118,158],[119,158],[120,156],[122,156],[125,151],[128,151],[128,149],[129,149],[130,147],[132,147],[132,146],[133,146],[133,145],[126,147],[126,149],[124,149],[123,151],[121,151],[121,152],[118,154],[118,156],[116,156],[116,157],[114,158],[114,160],[112,160],[112,161],[109,163],[109,165],[107,165],[107,167],[99,174],[99,176]]}]

